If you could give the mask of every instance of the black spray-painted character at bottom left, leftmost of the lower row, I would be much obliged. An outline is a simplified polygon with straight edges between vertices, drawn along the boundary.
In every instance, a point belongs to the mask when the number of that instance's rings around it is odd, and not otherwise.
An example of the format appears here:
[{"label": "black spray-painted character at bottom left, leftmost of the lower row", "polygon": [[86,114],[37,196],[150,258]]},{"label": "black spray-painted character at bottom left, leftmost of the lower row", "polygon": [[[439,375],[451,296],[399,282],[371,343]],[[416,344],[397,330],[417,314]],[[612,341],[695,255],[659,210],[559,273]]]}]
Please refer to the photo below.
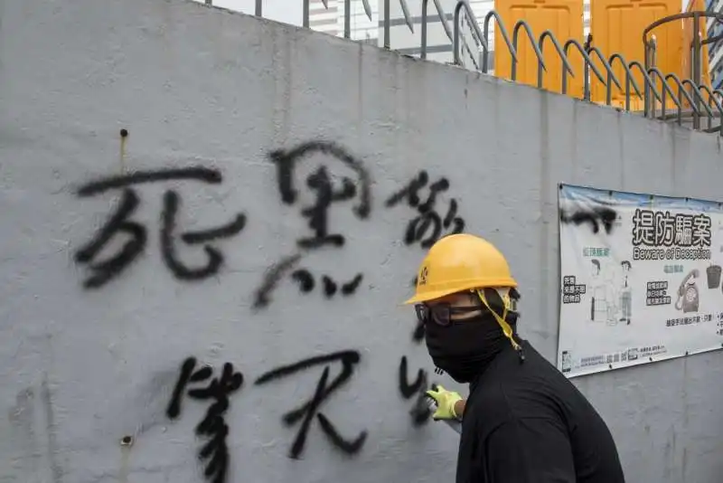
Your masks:
[{"label": "black spray-painted character at bottom left, leftmost of the lower row", "polygon": [[[181,414],[183,393],[190,383],[207,381],[213,375],[213,370],[206,365],[194,372],[196,359],[188,357],[183,361],[181,374],[174,386],[174,392],[166,409],[169,419],[175,420]],[[243,384],[243,374],[236,372],[233,365],[223,365],[221,378],[214,377],[211,382],[202,388],[189,389],[186,395],[198,401],[212,400],[213,403],[207,409],[206,415],[196,426],[196,434],[204,436],[208,441],[199,450],[199,458],[206,460],[206,468],[203,475],[211,483],[223,483],[229,470],[229,448],[226,445],[226,438],[229,435],[229,426],[223,419],[223,415],[229,409],[229,396],[236,393]]]}]

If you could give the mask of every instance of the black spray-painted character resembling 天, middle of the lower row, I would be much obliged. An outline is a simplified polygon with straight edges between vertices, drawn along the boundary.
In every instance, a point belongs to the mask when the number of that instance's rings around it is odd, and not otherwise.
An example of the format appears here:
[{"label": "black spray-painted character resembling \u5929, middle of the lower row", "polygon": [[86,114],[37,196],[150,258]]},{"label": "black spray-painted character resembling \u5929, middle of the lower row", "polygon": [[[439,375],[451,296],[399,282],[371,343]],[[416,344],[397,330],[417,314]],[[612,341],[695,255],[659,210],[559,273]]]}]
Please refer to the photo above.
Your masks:
[{"label": "black spray-painted character resembling \u5929, middle of the lower row", "polygon": [[[286,414],[282,417],[282,421],[286,424],[286,426],[292,426],[301,421],[299,430],[296,433],[296,438],[291,446],[291,450],[289,451],[290,458],[298,459],[304,451],[306,436],[311,428],[311,423],[315,416],[316,420],[319,422],[321,430],[332,442],[333,446],[350,455],[356,454],[362,450],[367,438],[367,431],[361,431],[354,440],[346,440],[333,426],[332,421],[329,421],[324,413],[320,412],[321,406],[331,397],[333,392],[349,381],[354,371],[354,365],[359,364],[360,360],[361,355],[359,352],[345,350],[328,355],[310,357],[292,365],[284,365],[258,377],[255,384],[267,384],[279,378],[296,374],[305,369],[318,365],[324,365],[324,372],[319,378],[318,384],[316,384],[315,392],[312,398],[301,404],[300,407],[286,412]],[[331,383],[329,383],[329,365],[335,362],[342,364],[342,371],[333,379],[333,381],[331,381]]]}]

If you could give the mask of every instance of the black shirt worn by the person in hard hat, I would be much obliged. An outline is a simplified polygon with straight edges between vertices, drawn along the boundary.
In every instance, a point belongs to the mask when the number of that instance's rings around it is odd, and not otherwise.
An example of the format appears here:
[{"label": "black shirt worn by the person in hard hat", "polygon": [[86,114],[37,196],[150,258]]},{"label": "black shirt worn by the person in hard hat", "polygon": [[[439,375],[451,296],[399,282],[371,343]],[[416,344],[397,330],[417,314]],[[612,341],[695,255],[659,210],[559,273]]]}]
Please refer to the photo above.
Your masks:
[{"label": "black shirt worn by the person in hard hat", "polygon": [[624,483],[615,441],[585,396],[528,342],[470,386],[457,483]]}]

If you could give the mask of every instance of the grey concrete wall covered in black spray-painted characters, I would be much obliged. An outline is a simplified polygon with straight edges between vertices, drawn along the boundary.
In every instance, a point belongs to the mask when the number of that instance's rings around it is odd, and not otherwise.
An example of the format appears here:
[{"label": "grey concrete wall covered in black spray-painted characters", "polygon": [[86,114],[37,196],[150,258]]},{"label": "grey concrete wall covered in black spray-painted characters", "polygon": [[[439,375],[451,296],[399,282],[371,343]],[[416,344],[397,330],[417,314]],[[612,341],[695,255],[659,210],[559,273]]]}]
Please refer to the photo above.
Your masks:
[{"label": "grey concrete wall covered in black spray-painted characters", "polygon": [[[229,482],[452,481],[455,433],[410,413],[418,370],[435,380],[399,306],[424,250],[405,242],[417,209],[390,196],[446,178],[436,210],[455,200],[509,256],[521,332],[550,358],[558,182],[719,198],[718,137],[373,46],[182,0],[0,0],[0,18],[3,483],[200,482],[220,418]],[[134,170],[156,174],[123,191]],[[304,248],[324,173],[355,193],[316,220],[337,236]],[[343,385],[289,458],[305,412],[282,417],[324,375],[308,359],[338,351],[325,387]],[[196,372],[176,406],[190,357],[220,379],[194,399]],[[721,362],[576,380],[629,481],[720,481]]]}]

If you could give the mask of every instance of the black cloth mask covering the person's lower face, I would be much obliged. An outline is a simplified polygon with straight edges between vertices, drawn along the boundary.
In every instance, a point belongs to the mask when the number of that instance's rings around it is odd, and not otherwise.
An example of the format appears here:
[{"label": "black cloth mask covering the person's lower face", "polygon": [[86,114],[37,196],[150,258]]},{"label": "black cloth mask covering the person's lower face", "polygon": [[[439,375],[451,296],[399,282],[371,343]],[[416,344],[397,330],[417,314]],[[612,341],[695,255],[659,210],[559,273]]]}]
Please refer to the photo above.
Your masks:
[{"label": "black cloth mask covering the person's lower face", "polygon": [[[507,317],[512,329],[516,318]],[[487,311],[478,317],[453,320],[446,327],[430,321],[425,324],[425,340],[435,365],[461,384],[473,382],[496,355],[512,348],[502,327]]]}]

